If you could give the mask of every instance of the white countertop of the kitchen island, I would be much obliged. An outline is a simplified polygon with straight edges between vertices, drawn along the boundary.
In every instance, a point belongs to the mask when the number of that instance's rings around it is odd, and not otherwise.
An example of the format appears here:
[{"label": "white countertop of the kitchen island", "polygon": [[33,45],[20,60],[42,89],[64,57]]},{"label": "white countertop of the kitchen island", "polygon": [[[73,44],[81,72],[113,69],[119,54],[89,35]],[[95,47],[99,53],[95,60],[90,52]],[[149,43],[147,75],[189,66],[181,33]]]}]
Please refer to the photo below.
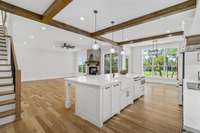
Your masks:
[{"label": "white countertop of the kitchen island", "polygon": [[116,74],[113,78],[111,74],[103,74],[103,75],[95,75],[95,76],[79,76],[74,78],[65,78],[68,82],[75,82],[87,85],[94,85],[94,86],[105,86],[113,83],[120,82],[120,78],[136,78],[142,77],[142,75],[136,74],[127,74],[127,75],[120,75]]}]

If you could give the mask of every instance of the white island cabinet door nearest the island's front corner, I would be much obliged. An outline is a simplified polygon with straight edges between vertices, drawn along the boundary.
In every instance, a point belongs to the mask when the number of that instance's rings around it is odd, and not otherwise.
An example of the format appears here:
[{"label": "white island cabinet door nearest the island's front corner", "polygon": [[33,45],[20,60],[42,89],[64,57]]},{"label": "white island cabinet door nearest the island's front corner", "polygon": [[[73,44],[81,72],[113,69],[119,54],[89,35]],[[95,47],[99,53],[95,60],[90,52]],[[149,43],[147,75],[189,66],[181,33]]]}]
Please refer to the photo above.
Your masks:
[{"label": "white island cabinet door nearest the island's front corner", "polygon": [[112,88],[107,86],[103,90],[103,120],[106,121],[112,115]]}]

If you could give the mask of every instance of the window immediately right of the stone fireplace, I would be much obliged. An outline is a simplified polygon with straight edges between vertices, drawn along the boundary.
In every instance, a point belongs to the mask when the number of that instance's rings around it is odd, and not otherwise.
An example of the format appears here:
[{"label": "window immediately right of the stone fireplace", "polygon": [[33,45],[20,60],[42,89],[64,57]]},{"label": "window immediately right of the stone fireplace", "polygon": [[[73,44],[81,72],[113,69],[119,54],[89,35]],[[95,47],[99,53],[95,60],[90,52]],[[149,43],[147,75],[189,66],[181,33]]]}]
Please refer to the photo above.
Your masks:
[{"label": "window immediately right of the stone fireplace", "polygon": [[119,64],[119,56],[115,54],[104,55],[104,73],[117,73]]}]

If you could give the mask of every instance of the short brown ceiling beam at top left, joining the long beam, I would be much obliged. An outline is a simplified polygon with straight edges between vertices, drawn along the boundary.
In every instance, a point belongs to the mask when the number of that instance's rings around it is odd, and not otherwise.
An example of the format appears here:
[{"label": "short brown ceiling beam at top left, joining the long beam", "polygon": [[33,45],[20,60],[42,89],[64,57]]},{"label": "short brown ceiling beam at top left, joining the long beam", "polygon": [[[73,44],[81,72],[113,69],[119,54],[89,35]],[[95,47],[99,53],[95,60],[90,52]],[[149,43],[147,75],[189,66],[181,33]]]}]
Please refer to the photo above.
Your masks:
[{"label": "short brown ceiling beam at top left, joining the long beam", "polygon": [[53,4],[43,14],[43,21],[51,20],[56,14],[58,14],[63,8],[65,8],[72,0],[55,0]]}]

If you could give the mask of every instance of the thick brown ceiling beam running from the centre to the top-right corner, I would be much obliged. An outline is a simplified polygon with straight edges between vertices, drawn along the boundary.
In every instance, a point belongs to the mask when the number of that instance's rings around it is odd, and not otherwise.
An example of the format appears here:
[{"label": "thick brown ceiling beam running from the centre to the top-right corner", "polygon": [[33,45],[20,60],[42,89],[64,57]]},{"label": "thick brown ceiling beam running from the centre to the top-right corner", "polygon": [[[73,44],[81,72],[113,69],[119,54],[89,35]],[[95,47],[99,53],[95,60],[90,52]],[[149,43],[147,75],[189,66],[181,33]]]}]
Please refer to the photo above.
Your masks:
[{"label": "thick brown ceiling beam running from the centre to the top-right corner", "polygon": [[138,17],[138,18],[134,18],[131,19],[129,21],[99,30],[97,32],[92,33],[92,36],[100,36],[103,34],[107,34],[107,33],[111,33],[111,32],[115,32],[118,30],[122,30],[125,28],[129,28],[132,26],[136,26],[136,25],[140,25],[143,23],[147,23],[156,19],[160,19],[162,17],[166,17],[166,16],[170,16],[170,15],[174,15],[174,14],[178,14],[190,9],[194,9],[196,7],[196,0],[187,0],[183,3]]}]

